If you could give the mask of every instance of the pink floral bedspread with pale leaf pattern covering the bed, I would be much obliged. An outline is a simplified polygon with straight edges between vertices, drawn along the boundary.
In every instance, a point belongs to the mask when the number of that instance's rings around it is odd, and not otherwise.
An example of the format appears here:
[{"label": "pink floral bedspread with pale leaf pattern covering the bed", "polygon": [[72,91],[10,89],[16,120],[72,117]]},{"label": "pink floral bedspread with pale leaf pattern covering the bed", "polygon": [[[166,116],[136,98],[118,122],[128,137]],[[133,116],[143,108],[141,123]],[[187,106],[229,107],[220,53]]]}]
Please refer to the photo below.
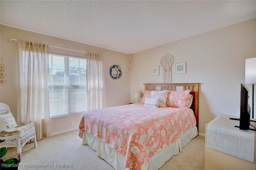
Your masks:
[{"label": "pink floral bedspread with pale leaf pattern covering the bed", "polygon": [[192,109],[157,109],[137,103],[84,113],[79,137],[82,138],[86,130],[108,143],[117,153],[126,155],[126,168],[148,170],[151,156],[195,125]]}]

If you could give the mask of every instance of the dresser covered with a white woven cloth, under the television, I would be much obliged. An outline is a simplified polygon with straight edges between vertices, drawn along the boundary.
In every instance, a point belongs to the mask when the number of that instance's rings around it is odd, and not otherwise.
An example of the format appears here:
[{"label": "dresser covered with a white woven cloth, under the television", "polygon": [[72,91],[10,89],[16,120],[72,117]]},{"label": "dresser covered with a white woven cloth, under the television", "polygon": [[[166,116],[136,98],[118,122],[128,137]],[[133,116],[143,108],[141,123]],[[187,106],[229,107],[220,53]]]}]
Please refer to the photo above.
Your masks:
[{"label": "dresser covered with a white woven cloth, under the television", "polygon": [[256,170],[255,131],[240,130],[229,117],[239,118],[220,114],[206,124],[205,170]]}]

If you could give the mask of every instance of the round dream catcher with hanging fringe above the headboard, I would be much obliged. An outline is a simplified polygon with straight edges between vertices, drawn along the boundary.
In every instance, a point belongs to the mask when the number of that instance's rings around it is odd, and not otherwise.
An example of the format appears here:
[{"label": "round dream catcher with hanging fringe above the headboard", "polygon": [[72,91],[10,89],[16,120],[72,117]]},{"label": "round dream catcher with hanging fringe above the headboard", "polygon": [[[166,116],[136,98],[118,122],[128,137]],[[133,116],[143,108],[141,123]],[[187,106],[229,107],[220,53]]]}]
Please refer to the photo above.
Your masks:
[{"label": "round dream catcher with hanging fringe above the headboard", "polygon": [[172,64],[174,62],[174,57],[171,54],[166,54],[161,59],[161,65],[163,70],[164,83],[172,82]]}]

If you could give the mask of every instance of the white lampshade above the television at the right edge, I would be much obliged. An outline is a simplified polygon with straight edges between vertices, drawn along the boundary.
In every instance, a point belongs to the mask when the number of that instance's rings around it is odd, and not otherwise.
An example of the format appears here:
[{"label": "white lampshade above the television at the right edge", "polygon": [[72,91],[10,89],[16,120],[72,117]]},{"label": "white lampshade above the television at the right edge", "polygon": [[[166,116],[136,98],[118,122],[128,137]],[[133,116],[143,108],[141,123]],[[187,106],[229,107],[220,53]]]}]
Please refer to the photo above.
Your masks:
[{"label": "white lampshade above the television at the right edge", "polygon": [[256,84],[256,58],[245,59],[245,84]]}]

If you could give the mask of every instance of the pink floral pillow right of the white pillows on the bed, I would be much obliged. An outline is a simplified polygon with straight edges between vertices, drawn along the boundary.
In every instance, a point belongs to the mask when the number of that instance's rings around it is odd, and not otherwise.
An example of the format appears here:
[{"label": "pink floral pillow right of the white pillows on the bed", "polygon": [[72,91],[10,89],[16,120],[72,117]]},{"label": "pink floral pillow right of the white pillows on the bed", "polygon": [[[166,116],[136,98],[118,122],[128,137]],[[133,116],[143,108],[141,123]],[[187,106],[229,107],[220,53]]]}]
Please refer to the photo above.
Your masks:
[{"label": "pink floral pillow right of the white pillows on the bed", "polygon": [[182,109],[187,109],[189,102],[190,90],[183,91],[169,91],[166,106],[168,107],[178,107]]}]

